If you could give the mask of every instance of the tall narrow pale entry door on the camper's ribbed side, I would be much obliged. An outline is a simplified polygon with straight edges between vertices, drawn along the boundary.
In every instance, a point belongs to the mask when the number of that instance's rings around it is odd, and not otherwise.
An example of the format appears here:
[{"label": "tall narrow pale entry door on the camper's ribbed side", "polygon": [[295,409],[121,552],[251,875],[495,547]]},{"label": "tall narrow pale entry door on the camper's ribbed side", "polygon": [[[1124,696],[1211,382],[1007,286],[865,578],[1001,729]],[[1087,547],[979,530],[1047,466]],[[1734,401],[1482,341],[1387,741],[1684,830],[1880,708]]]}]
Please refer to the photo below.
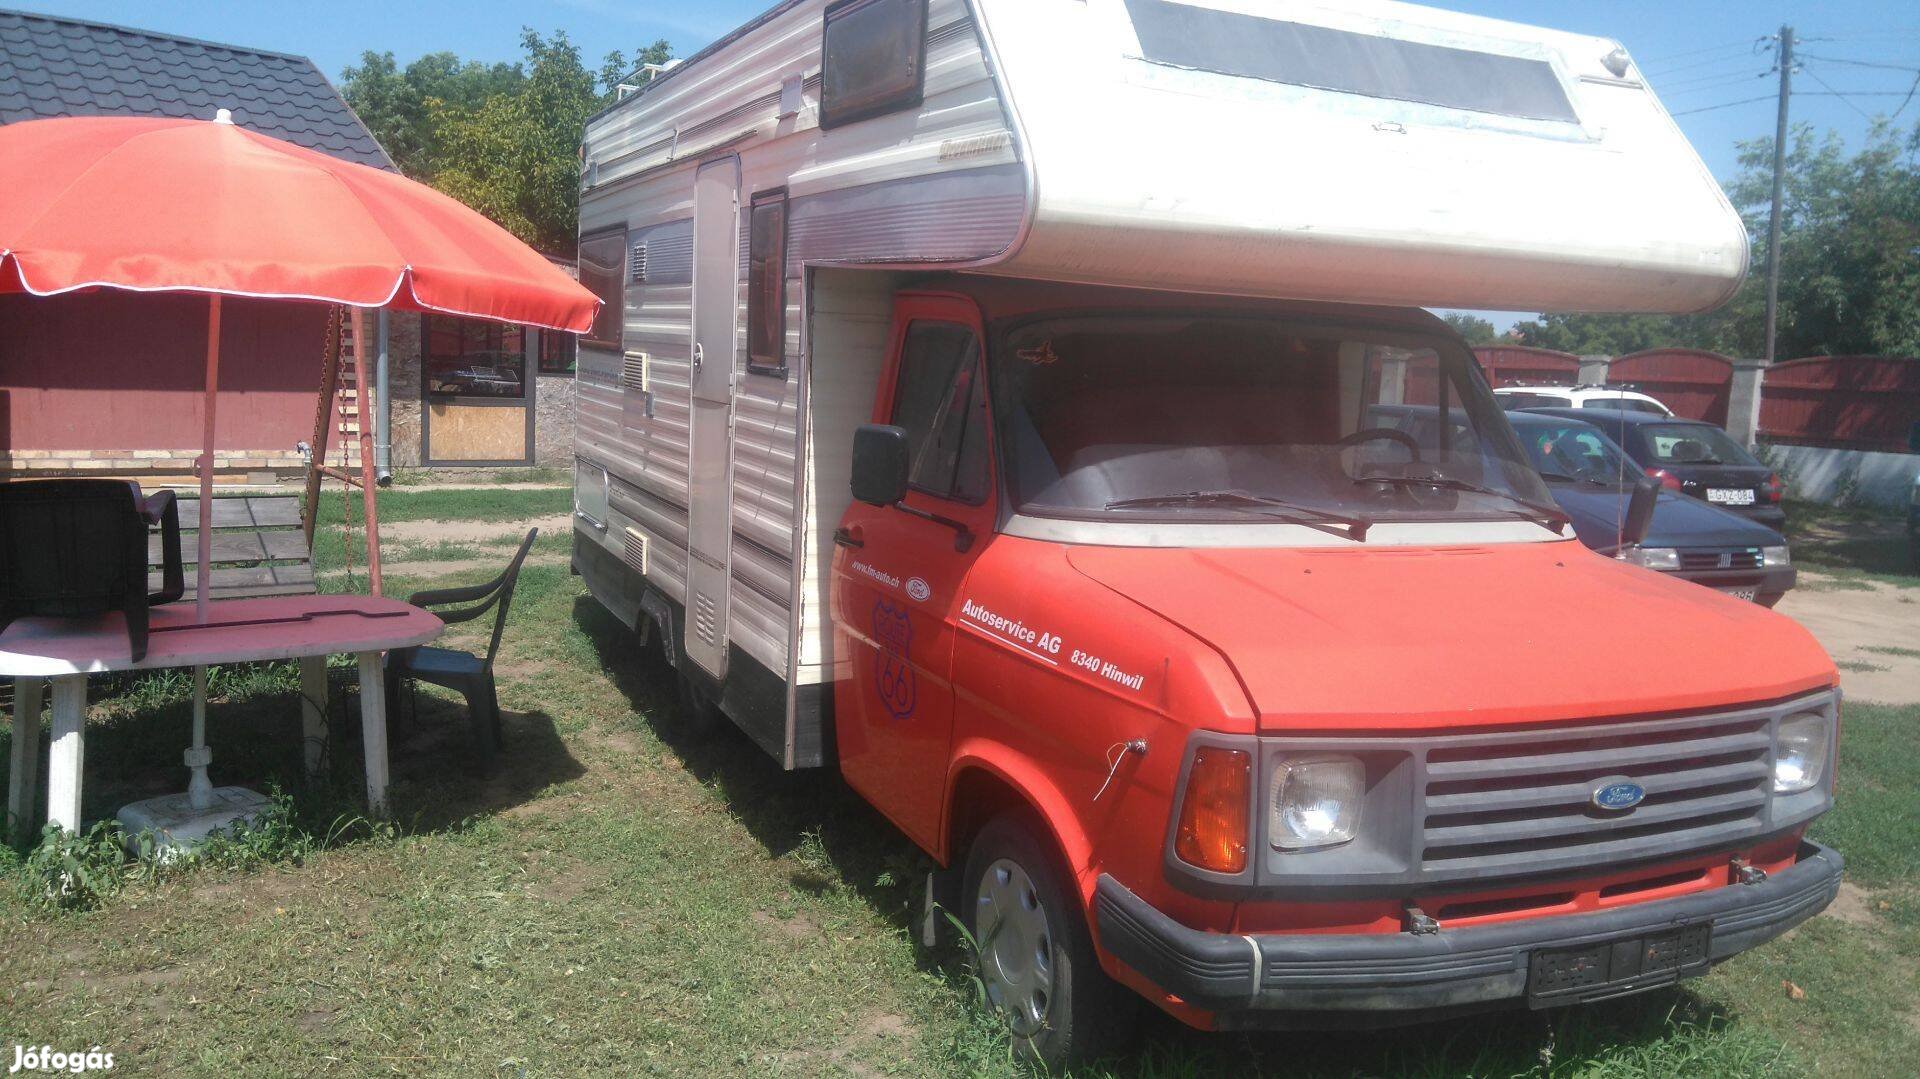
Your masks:
[{"label": "tall narrow pale entry door on the camper's ribbed side", "polygon": [[733,532],[733,334],[739,303],[739,157],[693,179],[693,353],[687,374],[687,657],[726,674]]}]

